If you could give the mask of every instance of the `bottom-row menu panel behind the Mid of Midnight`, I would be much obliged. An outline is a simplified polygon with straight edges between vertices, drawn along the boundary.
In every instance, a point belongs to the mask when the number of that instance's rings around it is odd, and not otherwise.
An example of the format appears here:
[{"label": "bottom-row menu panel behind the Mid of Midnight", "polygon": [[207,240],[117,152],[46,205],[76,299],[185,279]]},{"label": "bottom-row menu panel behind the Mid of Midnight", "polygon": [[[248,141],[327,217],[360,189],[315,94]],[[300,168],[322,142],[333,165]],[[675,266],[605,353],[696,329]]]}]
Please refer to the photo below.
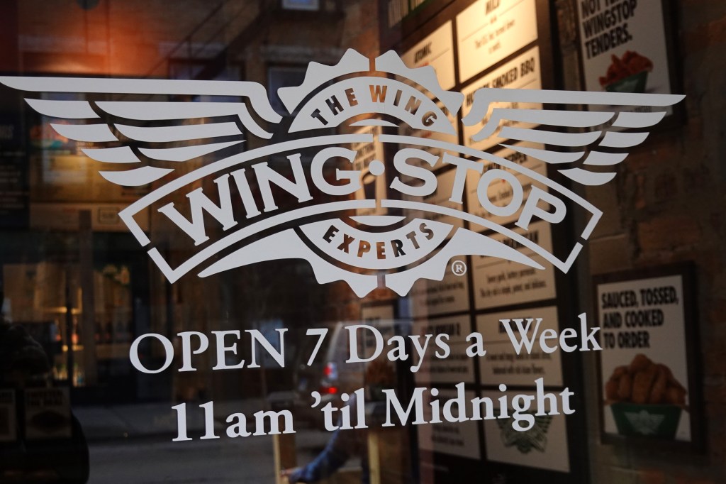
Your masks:
[{"label": "bottom-row menu panel behind the Mid of Midnight", "polygon": [[[424,392],[423,414],[426,422],[431,420],[431,393]],[[464,399],[468,403],[476,395],[474,392],[463,392]],[[456,398],[456,390],[439,390],[436,397],[442,406],[446,400]],[[456,406],[452,406],[452,414],[458,416]],[[462,408],[466,408],[463,405]],[[428,425],[417,425],[419,446],[423,450],[437,453],[446,453],[452,456],[468,457],[479,459],[479,435],[477,422],[446,422],[445,420]]]}]

